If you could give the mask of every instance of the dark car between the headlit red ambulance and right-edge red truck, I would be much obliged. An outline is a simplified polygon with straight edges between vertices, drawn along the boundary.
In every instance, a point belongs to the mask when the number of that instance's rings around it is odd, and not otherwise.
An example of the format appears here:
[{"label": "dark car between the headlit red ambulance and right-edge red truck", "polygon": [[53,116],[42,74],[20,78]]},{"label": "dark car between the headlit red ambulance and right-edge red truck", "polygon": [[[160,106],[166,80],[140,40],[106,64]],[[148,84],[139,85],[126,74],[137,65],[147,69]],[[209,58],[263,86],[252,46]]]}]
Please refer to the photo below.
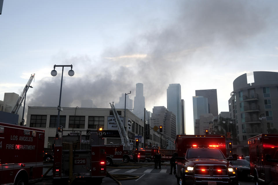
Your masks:
[{"label": "dark car between the headlit red ambulance and right-edge red truck", "polygon": [[237,167],[237,175],[239,179],[250,177],[250,162],[245,159],[237,159],[236,161],[230,161],[230,163]]}]

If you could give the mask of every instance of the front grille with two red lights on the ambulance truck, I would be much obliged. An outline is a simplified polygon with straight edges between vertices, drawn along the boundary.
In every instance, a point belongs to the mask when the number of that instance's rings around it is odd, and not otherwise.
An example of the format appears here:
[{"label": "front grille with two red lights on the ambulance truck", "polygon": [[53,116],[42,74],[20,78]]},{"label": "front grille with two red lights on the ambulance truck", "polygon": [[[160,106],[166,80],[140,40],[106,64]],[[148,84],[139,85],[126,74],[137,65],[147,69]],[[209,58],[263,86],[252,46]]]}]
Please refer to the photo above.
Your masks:
[{"label": "front grille with two red lights on the ambulance truck", "polygon": [[195,165],[195,175],[228,175],[225,165]]}]

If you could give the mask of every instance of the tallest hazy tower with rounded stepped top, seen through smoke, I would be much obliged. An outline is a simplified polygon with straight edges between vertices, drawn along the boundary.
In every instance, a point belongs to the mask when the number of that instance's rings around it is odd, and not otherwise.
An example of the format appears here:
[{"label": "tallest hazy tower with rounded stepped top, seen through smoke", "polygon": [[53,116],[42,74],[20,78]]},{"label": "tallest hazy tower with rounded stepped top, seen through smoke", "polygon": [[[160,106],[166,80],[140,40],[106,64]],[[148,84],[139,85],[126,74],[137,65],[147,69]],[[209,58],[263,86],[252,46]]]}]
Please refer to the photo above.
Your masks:
[{"label": "tallest hazy tower with rounded stepped top, seen through smoke", "polygon": [[136,84],[136,96],[134,97],[133,114],[144,120],[145,97],[143,96],[144,88],[142,83]]}]

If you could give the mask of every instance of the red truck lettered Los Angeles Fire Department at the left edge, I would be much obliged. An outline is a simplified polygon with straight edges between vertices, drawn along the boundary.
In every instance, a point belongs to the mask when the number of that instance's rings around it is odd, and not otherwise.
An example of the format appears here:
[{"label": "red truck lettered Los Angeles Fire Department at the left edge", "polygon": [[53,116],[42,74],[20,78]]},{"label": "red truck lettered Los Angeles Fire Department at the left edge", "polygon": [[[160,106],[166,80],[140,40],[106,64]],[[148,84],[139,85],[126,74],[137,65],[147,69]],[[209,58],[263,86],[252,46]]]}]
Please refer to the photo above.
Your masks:
[{"label": "red truck lettered Los Angeles Fire Department at the left edge", "polygon": [[27,184],[42,178],[45,132],[0,123],[0,184]]}]

